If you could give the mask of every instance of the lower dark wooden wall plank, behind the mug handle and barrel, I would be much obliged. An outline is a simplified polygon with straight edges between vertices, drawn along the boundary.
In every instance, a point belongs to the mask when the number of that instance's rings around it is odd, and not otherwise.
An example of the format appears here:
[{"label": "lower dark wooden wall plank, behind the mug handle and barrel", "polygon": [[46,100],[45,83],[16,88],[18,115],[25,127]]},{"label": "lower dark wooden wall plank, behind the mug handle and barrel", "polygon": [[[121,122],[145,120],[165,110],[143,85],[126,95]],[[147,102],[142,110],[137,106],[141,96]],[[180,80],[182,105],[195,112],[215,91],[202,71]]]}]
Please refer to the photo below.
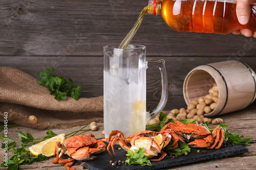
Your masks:
[{"label": "lower dark wooden wall plank, behind the mug handle and barrel", "polygon": [[[168,72],[169,98],[165,110],[185,107],[183,81],[188,72],[198,65],[225,61],[223,57],[147,57],[148,61],[164,59]],[[103,57],[0,57],[0,66],[21,69],[36,77],[45,67],[54,66],[55,75],[71,78],[74,85],[81,85],[82,97],[103,95]],[[241,61],[256,70],[256,58],[243,57]],[[147,69],[147,108],[154,109],[161,98],[159,69]],[[254,102],[255,104],[255,102]]]}]

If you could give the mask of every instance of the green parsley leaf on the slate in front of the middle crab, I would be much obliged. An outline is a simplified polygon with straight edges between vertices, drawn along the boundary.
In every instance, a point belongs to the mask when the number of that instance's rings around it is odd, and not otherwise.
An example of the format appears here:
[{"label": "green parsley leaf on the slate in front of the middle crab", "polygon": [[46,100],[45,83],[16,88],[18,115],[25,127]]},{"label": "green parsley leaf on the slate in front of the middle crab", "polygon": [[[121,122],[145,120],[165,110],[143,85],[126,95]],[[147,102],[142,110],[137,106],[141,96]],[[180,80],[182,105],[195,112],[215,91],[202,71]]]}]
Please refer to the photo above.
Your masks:
[{"label": "green parsley leaf on the slate in front of the middle crab", "polygon": [[151,166],[151,162],[150,160],[147,159],[147,157],[144,155],[144,148],[139,148],[139,150],[128,150],[127,151],[127,159],[125,160],[125,162],[127,162],[129,165],[131,164],[140,164],[141,166]]}]

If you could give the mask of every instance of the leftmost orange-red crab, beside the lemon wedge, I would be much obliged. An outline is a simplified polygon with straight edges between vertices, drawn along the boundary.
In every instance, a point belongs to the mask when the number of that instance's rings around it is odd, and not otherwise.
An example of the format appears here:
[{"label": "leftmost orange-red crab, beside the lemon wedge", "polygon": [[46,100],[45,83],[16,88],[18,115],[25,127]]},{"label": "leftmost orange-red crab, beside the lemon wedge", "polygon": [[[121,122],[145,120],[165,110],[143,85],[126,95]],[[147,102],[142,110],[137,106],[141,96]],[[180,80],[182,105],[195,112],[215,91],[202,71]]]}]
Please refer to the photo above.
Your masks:
[{"label": "leftmost orange-red crab, beside the lemon wedge", "polygon": [[[54,156],[57,154],[57,157],[55,160],[53,160],[53,163],[66,163],[66,169],[73,170],[83,164],[82,163],[79,166],[71,168],[70,166],[73,165],[75,160],[92,160],[95,157],[91,154],[101,153],[105,151],[105,147],[105,143],[100,139],[97,140],[93,134],[71,136],[63,140],[62,144],[60,142],[56,142]],[[61,148],[60,154],[57,152],[58,148]],[[59,160],[59,158],[66,153],[72,158],[67,160]]]}]

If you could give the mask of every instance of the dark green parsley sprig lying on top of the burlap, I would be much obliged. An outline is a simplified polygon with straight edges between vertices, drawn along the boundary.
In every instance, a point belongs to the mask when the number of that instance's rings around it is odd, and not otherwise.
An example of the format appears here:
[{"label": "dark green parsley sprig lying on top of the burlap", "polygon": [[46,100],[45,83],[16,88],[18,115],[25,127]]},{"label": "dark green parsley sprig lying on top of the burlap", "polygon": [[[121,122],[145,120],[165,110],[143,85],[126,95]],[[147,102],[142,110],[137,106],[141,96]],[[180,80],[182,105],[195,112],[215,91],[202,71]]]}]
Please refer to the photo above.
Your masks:
[{"label": "dark green parsley sprig lying on top of the burlap", "polygon": [[45,86],[50,90],[50,94],[55,95],[56,100],[66,100],[67,96],[71,96],[78,100],[81,86],[74,87],[73,80],[69,78],[69,82],[61,76],[53,76],[54,68],[46,68],[46,71],[39,71],[38,77],[41,78],[37,84]]}]

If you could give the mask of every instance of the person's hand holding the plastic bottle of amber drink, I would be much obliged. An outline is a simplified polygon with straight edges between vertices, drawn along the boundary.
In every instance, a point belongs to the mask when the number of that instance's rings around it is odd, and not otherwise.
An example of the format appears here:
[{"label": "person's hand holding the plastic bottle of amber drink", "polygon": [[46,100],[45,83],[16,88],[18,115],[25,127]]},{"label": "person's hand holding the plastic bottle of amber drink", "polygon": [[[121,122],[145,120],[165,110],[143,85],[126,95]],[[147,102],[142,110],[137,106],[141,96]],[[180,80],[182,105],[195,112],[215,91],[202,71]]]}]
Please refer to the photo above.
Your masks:
[{"label": "person's hand holding the plastic bottle of amber drink", "polygon": [[[237,17],[239,22],[242,25],[246,25],[250,19],[250,13],[251,13],[251,7],[250,4],[255,4],[256,0],[237,0]],[[256,32],[253,32],[249,29],[242,29],[242,30],[236,30],[232,32],[233,34],[243,34],[246,37],[255,37],[256,38]]]}]

